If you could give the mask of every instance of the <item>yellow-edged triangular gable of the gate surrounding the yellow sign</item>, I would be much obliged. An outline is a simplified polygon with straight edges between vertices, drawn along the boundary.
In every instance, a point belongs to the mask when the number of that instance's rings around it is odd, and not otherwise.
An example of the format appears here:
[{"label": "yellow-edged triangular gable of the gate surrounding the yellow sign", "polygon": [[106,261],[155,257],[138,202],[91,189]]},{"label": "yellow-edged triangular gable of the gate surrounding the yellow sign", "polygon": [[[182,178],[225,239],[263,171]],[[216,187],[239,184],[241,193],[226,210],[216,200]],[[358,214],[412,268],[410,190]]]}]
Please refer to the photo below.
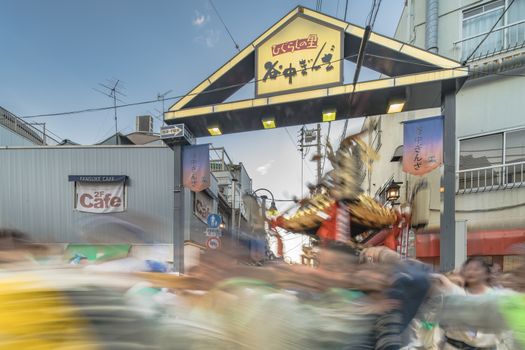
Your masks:
[{"label": "yellow-edged triangular gable of the gate surrounding the yellow sign", "polygon": [[[308,8],[300,6],[296,7],[277,23],[271,26],[268,30],[266,30],[263,34],[261,34],[258,38],[256,38],[253,42],[251,42],[248,46],[246,46],[242,51],[236,54],[232,59],[226,62],[217,71],[206,78],[202,83],[189,91],[183,98],[173,104],[169,108],[168,112],[166,112],[165,119],[173,119],[175,118],[176,114],[184,114],[174,112],[182,112],[182,110],[186,108],[191,108],[193,113],[195,113],[196,110],[201,110],[202,113],[209,113],[210,108],[213,110],[211,107],[212,105],[217,105],[223,102],[235,91],[247,84],[255,76],[255,49],[257,46],[259,46],[264,40],[271,37],[273,34],[277,33],[283,26],[285,26],[297,16],[304,16],[314,19],[318,22],[340,28],[345,32],[345,37],[347,37],[346,39],[349,40],[360,40],[363,38],[365,33],[365,29],[362,27],[347,23],[340,19],[316,12]],[[345,41],[348,41],[346,39]],[[349,50],[356,49],[356,47],[345,48],[345,53],[349,52]],[[450,60],[443,56],[436,55],[426,50],[373,32],[370,34],[368,39],[367,53],[370,51],[372,51],[370,55],[374,59],[368,61],[365,60],[364,65],[389,76],[407,75],[425,71],[428,72],[431,70],[452,69],[461,66],[459,62],[454,60]],[[373,52],[379,52],[382,55],[374,55]],[[345,54],[345,56],[349,57],[351,55]],[[356,55],[352,56],[353,59],[355,59]],[[382,69],[385,69],[384,64],[376,64],[376,67],[374,67],[374,63],[384,62],[384,60],[389,60],[391,63],[395,59],[398,60],[398,63],[394,63],[397,64],[397,67],[395,67],[395,69],[391,68],[391,71],[381,71]],[[253,62],[251,62],[251,60],[253,60]],[[405,62],[404,65],[401,63],[403,61]],[[410,61],[413,61],[414,64],[411,64]],[[392,66],[392,64],[390,64],[390,66]],[[241,73],[239,73],[239,71],[233,72],[234,68],[239,69]],[[403,70],[407,71],[404,72]],[[232,84],[231,78],[237,80],[238,83]],[[221,79],[224,81],[221,81]],[[251,103],[246,105],[246,107],[250,106]],[[218,106],[215,106],[215,109],[216,108],[220,109]]]}]

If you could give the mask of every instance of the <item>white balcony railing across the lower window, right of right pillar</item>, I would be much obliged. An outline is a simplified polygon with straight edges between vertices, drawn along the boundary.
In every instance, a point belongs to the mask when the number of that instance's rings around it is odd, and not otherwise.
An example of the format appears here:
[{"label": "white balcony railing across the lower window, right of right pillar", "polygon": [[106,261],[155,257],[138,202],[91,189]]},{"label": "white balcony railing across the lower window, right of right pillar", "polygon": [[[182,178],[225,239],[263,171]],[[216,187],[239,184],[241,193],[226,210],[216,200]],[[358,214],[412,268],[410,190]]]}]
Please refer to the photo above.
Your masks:
[{"label": "white balcony railing across the lower window, right of right pillar", "polygon": [[525,162],[460,170],[457,193],[476,193],[517,188],[525,185]]}]

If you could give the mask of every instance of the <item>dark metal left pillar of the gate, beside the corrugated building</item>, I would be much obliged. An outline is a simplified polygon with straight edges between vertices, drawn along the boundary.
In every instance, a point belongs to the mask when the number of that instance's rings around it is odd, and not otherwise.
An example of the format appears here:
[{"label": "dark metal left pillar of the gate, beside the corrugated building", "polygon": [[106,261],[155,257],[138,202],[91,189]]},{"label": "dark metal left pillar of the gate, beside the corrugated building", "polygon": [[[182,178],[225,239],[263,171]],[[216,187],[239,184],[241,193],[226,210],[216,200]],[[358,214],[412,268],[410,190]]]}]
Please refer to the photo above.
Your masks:
[{"label": "dark metal left pillar of the gate, beside the corrugated building", "polygon": [[173,188],[173,271],[184,273],[184,187],[182,185],[182,145],[172,147]]}]

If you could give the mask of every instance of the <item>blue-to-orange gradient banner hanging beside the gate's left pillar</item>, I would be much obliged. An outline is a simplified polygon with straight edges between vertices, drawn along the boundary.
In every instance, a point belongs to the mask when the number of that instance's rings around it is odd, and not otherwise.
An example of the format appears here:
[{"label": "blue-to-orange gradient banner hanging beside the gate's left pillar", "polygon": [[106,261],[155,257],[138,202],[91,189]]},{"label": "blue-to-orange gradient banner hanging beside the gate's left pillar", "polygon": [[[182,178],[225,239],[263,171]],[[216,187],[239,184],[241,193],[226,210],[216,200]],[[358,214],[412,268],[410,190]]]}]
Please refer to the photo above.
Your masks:
[{"label": "blue-to-orange gradient banner hanging beside the gate's left pillar", "polygon": [[210,187],[209,144],[182,148],[182,184],[194,192]]}]

